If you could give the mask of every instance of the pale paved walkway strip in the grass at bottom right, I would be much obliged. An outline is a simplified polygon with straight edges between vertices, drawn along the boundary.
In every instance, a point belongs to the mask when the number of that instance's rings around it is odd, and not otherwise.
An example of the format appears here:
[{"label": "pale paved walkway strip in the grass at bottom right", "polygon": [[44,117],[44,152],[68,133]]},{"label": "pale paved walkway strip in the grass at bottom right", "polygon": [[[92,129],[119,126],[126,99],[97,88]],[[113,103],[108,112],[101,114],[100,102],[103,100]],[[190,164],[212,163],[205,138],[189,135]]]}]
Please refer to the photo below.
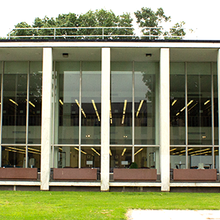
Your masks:
[{"label": "pale paved walkway strip in the grass at bottom right", "polygon": [[220,220],[220,210],[129,210],[128,220]]}]

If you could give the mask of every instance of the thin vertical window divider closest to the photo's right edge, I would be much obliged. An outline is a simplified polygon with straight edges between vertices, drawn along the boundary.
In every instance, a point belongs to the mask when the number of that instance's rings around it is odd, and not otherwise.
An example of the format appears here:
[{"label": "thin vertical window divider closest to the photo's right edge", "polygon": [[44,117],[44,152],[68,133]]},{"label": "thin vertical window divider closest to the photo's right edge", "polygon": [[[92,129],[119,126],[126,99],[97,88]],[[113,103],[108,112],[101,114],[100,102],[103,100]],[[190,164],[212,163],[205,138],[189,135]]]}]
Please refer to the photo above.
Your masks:
[{"label": "thin vertical window divider closest to the photo's right edge", "polygon": [[214,151],[214,145],[215,145],[215,128],[214,128],[214,80],[213,80],[213,62],[211,63],[210,66],[211,70],[211,115],[212,115],[212,164],[213,164],[213,169],[215,167],[215,151]]}]

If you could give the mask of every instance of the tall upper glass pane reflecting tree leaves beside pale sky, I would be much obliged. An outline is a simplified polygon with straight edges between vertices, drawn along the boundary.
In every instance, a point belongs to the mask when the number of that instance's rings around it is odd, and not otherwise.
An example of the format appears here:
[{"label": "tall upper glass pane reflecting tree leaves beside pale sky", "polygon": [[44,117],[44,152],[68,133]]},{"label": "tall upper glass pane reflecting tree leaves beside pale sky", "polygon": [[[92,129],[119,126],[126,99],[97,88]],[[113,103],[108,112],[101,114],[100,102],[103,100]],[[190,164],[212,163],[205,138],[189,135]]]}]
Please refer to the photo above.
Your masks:
[{"label": "tall upper glass pane reflecting tree leaves beside pale sky", "polygon": [[158,63],[135,63],[135,144],[155,144],[155,76]]}]

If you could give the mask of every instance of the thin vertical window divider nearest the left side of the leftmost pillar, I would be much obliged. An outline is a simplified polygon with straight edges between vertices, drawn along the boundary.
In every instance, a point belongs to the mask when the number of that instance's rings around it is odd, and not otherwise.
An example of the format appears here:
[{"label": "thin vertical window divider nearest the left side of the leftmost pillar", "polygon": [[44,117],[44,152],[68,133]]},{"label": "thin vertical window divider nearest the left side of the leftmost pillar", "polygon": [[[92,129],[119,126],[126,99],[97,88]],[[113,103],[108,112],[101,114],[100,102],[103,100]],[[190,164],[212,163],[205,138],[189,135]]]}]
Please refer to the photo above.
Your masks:
[{"label": "thin vertical window divider nearest the left side of the leftmost pillar", "polygon": [[27,102],[26,102],[26,136],[25,136],[25,148],[26,148],[26,160],[25,160],[25,168],[28,168],[28,125],[29,125],[29,90],[30,90],[30,61],[27,63]]}]

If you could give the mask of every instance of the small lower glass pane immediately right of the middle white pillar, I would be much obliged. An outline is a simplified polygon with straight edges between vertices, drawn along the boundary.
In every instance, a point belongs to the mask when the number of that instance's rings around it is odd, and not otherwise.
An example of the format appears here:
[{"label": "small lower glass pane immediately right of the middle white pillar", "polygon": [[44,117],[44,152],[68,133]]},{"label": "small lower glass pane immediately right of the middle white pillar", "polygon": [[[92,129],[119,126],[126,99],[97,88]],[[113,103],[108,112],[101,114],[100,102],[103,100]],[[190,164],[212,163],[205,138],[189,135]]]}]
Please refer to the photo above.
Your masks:
[{"label": "small lower glass pane immediately right of the middle white pillar", "polygon": [[128,168],[132,162],[131,147],[110,147],[110,168]]}]

